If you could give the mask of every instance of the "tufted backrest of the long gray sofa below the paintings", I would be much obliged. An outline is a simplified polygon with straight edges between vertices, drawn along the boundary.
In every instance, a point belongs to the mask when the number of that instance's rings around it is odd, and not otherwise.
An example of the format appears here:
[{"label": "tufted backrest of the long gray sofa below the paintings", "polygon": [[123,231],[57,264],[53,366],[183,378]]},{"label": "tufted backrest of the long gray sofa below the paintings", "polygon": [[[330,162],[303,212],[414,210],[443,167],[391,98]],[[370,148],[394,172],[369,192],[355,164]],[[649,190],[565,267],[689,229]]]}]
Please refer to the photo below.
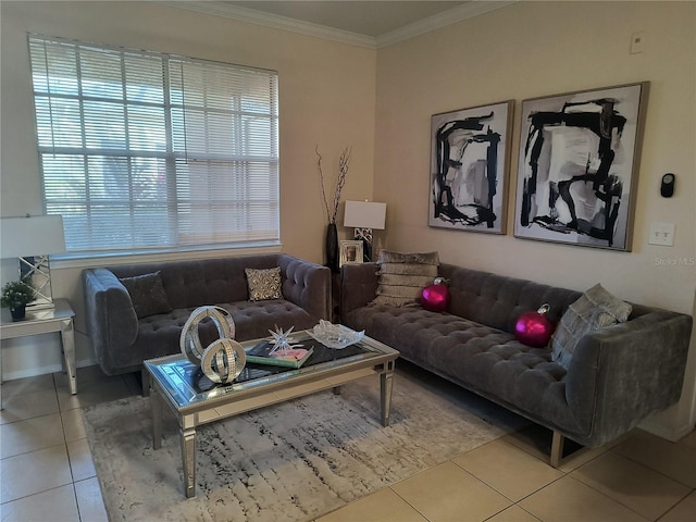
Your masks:
[{"label": "tufted backrest of the long gray sofa below the paintings", "polygon": [[519,316],[547,302],[548,318],[556,323],[582,293],[532,281],[442,263],[439,273],[449,279],[449,312],[481,324],[514,333]]}]

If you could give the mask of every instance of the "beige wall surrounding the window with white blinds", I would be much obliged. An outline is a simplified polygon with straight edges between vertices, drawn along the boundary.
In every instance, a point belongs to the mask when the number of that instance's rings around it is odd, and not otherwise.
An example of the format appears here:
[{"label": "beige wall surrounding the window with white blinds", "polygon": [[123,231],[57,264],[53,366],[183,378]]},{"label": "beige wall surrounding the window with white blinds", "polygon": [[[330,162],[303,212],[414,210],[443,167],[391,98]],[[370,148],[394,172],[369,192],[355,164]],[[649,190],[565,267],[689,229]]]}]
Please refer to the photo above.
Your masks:
[{"label": "beige wall surrounding the window with white blinds", "polygon": [[[239,63],[279,73],[281,239],[283,251],[323,262],[326,227],[315,148],[333,183],[337,161],[352,146],[345,199],[372,198],[376,51],[148,2],[5,2],[1,10],[0,211],[40,214],[27,33]],[[333,194],[333,189],[332,189]],[[343,210],[339,211],[343,219]],[[340,227],[339,227],[340,228]],[[346,231],[340,229],[341,236]],[[228,254],[231,252],[215,252]],[[234,252],[232,252],[234,253]],[[103,264],[115,260],[91,260]],[[61,262],[53,288],[77,311],[77,358],[94,356],[84,334],[84,264]],[[2,281],[15,278],[2,262]],[[10,275],[7,275],[10,274]],[[21,376],[60,363],[55,336],[9,341],[3,373]],[[34,352],[34,346],[42,349]],[[27,346],[29,345],[29,346]],[[46,349],[44,349],[46,348]]]}]

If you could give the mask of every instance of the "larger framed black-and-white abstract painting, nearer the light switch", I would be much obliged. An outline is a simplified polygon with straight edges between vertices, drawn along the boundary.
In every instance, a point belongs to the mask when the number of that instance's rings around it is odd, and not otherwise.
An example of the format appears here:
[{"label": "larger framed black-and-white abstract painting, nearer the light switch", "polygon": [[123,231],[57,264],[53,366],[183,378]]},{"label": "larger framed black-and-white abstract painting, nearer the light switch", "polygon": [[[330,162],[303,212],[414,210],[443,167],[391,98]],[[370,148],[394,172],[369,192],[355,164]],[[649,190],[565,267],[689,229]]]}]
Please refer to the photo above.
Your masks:
[{"label": "larger framed black-and-white abstract painting, nearer the light switch", "polygon": [[522,102],[515,237],[631,251],[648,87]]}]

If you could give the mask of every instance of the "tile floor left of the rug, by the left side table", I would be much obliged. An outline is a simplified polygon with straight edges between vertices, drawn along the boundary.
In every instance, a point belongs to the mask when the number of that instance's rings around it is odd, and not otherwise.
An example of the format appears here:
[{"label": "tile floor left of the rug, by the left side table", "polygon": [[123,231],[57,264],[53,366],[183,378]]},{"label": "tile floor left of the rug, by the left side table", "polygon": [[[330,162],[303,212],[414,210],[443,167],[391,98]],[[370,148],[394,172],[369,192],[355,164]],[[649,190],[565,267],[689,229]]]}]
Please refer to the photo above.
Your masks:
[{"label": "tile floor left of the rug, by the left side table", "polygon": [[2,522],[107,521],[80,407],[139,393],[133,377],[77,370],[77,395],[62,373],[2,384]]}]

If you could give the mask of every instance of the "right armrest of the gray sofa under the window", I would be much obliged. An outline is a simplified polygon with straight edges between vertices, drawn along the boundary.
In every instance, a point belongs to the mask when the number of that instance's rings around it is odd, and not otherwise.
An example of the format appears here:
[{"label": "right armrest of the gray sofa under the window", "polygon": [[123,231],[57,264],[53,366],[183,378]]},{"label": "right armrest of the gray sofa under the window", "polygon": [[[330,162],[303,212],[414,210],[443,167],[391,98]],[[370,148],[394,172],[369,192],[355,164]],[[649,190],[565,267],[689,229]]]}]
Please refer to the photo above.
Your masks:
[{"label": "right armrest of the gray sofa under the window", "polygon": [[279,257],[285,274],[283,297],[303,308],[319,323],[331,320],[331,270],[289,254]]}]

